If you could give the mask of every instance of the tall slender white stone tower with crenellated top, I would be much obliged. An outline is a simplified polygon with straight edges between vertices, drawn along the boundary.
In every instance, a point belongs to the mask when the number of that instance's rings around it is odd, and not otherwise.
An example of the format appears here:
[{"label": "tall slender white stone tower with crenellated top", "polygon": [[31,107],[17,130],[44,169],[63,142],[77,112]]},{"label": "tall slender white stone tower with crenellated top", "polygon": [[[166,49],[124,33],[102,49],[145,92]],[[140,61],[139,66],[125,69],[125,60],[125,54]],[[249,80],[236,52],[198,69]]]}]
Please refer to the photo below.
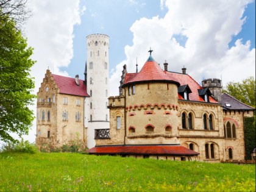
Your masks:
[{"label": "tall slender white stone tower with crenellated top", "polygon": [[104,34],[87,36],[87,63],[85,79],[87,93],[85,99],[85,127],[87,127],[87,148],[95,146],[96,129],[109,129],[108,105],[108,48],[109,37]]}]

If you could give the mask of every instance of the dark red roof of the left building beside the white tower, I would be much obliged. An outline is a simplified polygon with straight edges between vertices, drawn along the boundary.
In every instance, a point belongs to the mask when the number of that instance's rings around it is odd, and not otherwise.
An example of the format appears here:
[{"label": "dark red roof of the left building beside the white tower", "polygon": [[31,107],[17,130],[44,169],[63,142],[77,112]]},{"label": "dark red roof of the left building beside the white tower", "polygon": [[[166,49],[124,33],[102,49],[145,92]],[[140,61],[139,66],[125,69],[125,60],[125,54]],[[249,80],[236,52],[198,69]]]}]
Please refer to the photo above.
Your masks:
[{"label": "dark red roof of the left building beside the white tower", "polygon": [[56,74],[52,74],[52,76],[60,88],[60,93],[84,97],[89,96],[87,93],[87,87],[84,84],[84,80],[79,79],[79,86],[77,86],[74,78],[59,76]]}]

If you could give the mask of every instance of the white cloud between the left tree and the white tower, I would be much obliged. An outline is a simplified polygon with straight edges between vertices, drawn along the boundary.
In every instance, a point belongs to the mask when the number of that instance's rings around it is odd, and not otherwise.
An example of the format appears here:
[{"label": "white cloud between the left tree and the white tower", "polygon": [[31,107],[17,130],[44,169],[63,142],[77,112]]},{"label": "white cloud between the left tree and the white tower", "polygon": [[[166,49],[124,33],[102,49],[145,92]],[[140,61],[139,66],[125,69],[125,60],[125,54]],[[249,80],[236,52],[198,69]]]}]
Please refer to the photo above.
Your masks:
[{"label": "white cloud between the left tree and the white tower", "polygon": [[[60,68],[68,66],[73,58],[73,30],[76,24],[80,24],[85,7],[79,10],[79,0],[30,0],[28,6],[32,16],[25,26],[25,34],[29,46],[34,48],[32,59],[37,60],[30,73],[35,77],[36,94],[48,66],[52,73],[68,76]],[[35,112],[36,104],[33,110]],[[35,140],[35,125],[34,121],[29,136],[25,137],[30,141]]]}]

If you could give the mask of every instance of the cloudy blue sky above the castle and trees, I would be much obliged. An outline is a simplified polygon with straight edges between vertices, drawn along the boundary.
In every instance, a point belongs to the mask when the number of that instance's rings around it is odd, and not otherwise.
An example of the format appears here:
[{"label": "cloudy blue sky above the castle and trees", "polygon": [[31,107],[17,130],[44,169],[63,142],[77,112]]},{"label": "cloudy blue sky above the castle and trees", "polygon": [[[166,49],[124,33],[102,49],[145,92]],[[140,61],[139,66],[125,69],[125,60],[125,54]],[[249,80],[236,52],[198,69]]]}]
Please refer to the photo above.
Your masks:
[{"label": "cloudy blue sky above the castle and trees", "polygon": [[[110,37],[110,96],[118,95],[123,65],[128,73],[152,57],[163,68],[187,68],[203,79],[240,82],[255,77],[255,0],[29,0],[32,16],[24,26],[34,48],[31,69],[37,93],[46,69],[84,79],[86,37]],[[36,114],[36,102],[31,106]],[[35,141],[36,121],[24,137]]]}]

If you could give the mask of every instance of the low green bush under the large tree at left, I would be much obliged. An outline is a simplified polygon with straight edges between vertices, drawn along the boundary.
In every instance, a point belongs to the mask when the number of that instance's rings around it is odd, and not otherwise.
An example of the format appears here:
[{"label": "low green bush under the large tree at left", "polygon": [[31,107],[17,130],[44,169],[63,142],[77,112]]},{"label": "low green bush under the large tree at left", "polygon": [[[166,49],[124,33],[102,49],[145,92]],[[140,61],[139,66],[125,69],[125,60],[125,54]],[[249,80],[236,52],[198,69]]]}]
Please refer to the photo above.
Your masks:
[{"label": "low green bush under the large tree at left", "polygon": [[35,154],[38,152],[35,143],[29,143],[29,141],[8,142],[2,146],[2,152],[19,152],[27,154]]}]

